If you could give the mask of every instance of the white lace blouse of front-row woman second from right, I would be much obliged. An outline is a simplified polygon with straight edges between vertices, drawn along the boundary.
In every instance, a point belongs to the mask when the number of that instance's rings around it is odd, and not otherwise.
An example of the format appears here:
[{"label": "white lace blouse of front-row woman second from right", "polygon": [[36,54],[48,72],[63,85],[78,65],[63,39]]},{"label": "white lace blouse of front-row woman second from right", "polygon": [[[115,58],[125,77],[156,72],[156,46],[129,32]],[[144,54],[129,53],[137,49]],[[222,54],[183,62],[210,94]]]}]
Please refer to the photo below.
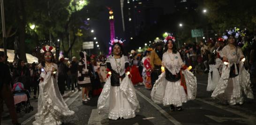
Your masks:
[{"label": "white lace blouse of front-row woman second from right", "polygon": [[166,51],[163,54],[162,64],[173,74],[180,73],[181,65],[183,65],[183,61],[181,59],[181,55],[179,52],[177,53],[169,53]]}]

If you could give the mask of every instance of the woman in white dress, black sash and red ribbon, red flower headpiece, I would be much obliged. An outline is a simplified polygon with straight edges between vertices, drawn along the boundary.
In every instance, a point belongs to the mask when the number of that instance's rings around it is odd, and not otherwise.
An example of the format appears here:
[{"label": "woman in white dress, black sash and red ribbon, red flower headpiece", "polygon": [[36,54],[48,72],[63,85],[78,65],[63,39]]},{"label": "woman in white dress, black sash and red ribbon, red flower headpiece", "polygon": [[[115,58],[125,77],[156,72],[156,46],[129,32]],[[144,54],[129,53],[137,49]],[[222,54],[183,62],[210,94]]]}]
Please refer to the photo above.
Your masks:
[{"label": "woman in white dress, black sash and red ribbon, red flower headpiece", "polygon": [[175,46],[175,38],[167,36],[163,54],[163,73],[151,91],[155,103],[170,106],[170,110],[182,110],[182,103],[196,98],[196,77],[183,63]]}]

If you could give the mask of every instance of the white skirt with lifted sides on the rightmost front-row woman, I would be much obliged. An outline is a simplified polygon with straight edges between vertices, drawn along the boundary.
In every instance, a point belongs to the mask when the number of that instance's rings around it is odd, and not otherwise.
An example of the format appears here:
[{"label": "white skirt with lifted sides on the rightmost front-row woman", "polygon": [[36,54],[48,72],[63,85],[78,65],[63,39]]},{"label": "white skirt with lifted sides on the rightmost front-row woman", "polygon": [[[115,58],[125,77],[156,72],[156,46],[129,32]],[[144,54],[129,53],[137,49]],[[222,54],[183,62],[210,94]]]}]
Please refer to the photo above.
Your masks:
[{"label": "white skirt with lifted sides on the rightmost front-row woman", "polygon": [[218,97],[221,100],[226,100],[227,103],[231,105],[243,103],[243,92],[247,98],[254,99],[252,89],[250,87],[250,74],[244,69],[242,61],[240,61],[239,70],[238,76],[229,78],[230,64],[227,66],[223,64],[221,78],[218,81],[217,87],[214,89],[211,97]]}]

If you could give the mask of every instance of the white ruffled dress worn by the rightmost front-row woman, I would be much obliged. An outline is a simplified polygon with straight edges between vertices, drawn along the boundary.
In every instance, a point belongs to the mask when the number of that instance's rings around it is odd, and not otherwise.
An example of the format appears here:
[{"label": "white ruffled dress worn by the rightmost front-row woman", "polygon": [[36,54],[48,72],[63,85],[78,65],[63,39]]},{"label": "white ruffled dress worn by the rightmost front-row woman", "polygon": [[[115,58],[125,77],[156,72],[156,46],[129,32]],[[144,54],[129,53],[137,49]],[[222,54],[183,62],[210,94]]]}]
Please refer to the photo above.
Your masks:
[{"label": "white ruffled dress worn by the rightmost front-row woman", "polygon": [[[243,57],[243,53],[240,47],[236,49],[231,49],[229,45],[226,45],[222,50],[223,57],[226,56],[229,63],[226,66],[224,63],[222,74],[220,80],[218,81],[217,87],[214,89],[212,93],[213,98],[220,98],[221,100],[227,101],[228,104],[242,104],[243,103],[243,95],[247,96],[247,98],[253,99],[252,89],[250,87],[250,74],[247,70],[245,70],[243,66],[243,62],[240,61],[240,58]],[[234,64],[239,63],[239,75],[233,78],[229,78],[230,67]],[[238,67],[235,65],[235,72],[238,74]]]}]

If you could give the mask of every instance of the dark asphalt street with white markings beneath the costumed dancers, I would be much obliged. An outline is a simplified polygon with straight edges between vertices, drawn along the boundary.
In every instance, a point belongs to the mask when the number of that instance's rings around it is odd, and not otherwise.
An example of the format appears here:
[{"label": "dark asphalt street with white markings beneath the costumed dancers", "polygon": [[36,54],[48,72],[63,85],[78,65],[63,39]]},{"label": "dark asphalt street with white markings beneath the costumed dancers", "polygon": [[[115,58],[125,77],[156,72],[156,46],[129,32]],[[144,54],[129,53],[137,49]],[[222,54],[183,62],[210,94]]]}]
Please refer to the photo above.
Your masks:
[{"label": "dark asphalt street with white markings beneath the costumed dancers", "polygon": [[[207,75],[197,76],[197,98],[184,103],[182,111],[169,111],[169,107],[151,101],[150,90],[135,87],[140,102],[140,112],[136,118],[109,120],[104,114],[98,115],[97,97],[87,104],[82,104],[81,91],[67,92],[65,102],[75,115],[64,117],[64,125],[255,125],[256,101],[245,100],[241,106],[224,105],[213,100],[211,92],[206,91]],[[255,89],[254,89],[255,90]],[[255,94],[255,91],[254,91]],[[37,111],[37,101],[31,99],[35,110],[25,114],[19,113],[19,121],[31,125]],[[5,110],[6,112],[7,110]],[[3,116],[1,125],[10,125],[8,115]]]}]

